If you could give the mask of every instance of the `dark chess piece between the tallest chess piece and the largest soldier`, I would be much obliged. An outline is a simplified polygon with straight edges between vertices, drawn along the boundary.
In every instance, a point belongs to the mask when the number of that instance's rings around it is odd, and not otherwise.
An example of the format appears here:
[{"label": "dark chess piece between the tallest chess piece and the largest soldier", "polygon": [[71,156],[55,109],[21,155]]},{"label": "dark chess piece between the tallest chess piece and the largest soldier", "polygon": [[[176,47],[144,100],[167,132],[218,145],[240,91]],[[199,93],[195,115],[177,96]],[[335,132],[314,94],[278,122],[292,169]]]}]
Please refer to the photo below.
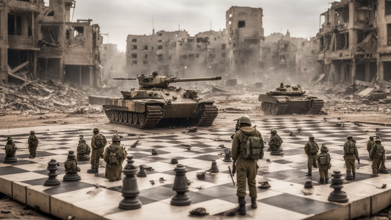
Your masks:
[{"label": "dark chess piece between the tallest chess piece and the largest soldier", "polygon": [[192,203],[190,197],[186,195],[188,191],[187,186],[187,177],[186,177],[186,167],[182,164],[176,165],[175,171],[175,179],[174,184],[172,185],[172,189],[176,191],[176,195],[171,198],[172,206],[188,206]]}]

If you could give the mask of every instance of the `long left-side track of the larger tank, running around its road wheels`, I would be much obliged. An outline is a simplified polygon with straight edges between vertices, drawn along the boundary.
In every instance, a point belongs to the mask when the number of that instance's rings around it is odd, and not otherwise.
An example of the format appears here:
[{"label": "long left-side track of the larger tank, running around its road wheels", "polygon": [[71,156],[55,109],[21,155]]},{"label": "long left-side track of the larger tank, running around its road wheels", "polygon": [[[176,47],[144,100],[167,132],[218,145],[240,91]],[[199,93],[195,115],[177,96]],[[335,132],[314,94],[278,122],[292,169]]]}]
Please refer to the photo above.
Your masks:
[{"label": "long left-side track of the larger tank, running around its road wheels", "polygon": [[[109,118],[111,123],[116,123],[116,124],[124,124],[126,126],[130,126],[133,128],[140,128],[140,129],[151,129],[154,128],[160,121],[160,119],[163,117],[163,109],[159,105],[147,105],[147,110],[145,111],[146,117],[145,121],[143,124],[133,124],[133,123],[125,123],[122,121],[113,121],[111,120],[110,114],[111,112],[123,112],[126,114],[129,113],[136,113],[136,112],[128,112],[128,111],[119,111],[119,110],[105,110],[105,113],[107,117]],[[139,113],[137,113],[139,114]]]}]

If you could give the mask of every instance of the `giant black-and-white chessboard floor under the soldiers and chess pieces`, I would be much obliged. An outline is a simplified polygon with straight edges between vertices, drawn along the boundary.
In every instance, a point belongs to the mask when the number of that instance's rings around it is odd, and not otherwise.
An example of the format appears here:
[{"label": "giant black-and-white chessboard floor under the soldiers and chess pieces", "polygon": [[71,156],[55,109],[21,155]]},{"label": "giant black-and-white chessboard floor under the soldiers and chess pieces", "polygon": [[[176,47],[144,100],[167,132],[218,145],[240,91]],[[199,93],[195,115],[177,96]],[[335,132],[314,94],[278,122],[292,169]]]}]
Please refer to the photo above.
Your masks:
[{"label": "giant black-and-white chessboard floor under the soldiers and chess pieces", "polygon": [[[246,196],[247,216],[262,219],[354,219],[368,216],[389,206],[391,200],[391,175],[372,175],[371,161],[366,151],[366,141],[370,135],[378,135],[386,148],[386,166],[391,168],[391,128],[363,124],[358,126],[344,123],[336,126],[336,121],[296,120],[296,119],[265,119],[253,120],[253,125],[262,133],[264,141],[268,142],[270,130],[275,129],[283,139],[283,156],[272,156],[267,144],[262,160],[258,161],[258,181],[267,180],[271,185],[268,189],[258,188],[257,209],[251,209],[250,197]],[[121,126],[121,125],[118,125]],[[233,124],[233,127],[235,124]],[[29,159],[27,139],[30,130],[35,130],[39,139],[37,157]],[[0,130],[2,148],[6,137],[10,135],[18,148],[18,162],[4,164],[4,151],[0,153],[0,192],[15,200],[35,207],[45,213],[59,218],[75,216],[75,219],[183,219],[189,211],[204,207],[209,213],[206,218],[226,218],[221,213],[237,207],[236,186],[230,177],[228,166],[224,162],[224,149],[231,148],[230,136],[234,128],[199,128],[197,132],[187,132],[185,128],[167,130],[137,130],[129,128],[136,136],[124,136],[121,144],[127,153],[133,155],[135,165],[153,168],[146,170],[147,177],[137,178],[140,194],[138,199],[142,207],[136,210],[121,210],[119,202],[123,199],[122,181],[109,182],[105,178],[105,164],[101,160],[99,174],[86,173],[90,168],[89,161],[78,161],[81,168],[81,180],[63,182],[65,175],[64,161],[69,150],[76,150],[79,135],[84,135],[87,142],[92,136],[92,127],[83,125],[42,126],[36,128],[18,128]],[[300,130],[300,131],[299,131]],[[101,130],[111,140],[114,131]],[[353,135],[357,141],[361,164],[356,163],[356,180],[344,180],[344,188],[349,202],[335,203],[328,201],[328,195],[333,191],[329,184],[317,183],[319,175],[313,168],[312,177],[305,176],[307,172],[307,157],[304,145],[308,136],[314,135],[319,145],[326,144],[332,157],[333,170],[346,173],[343,160],[343,144],[348,135]],[[135,148],[131,145],[139,140]],[[190,145],[190,149],[188,149]],[[155,148],[157,155],[152,155]],[[175,178],[176,164],[170,164],[172,158],[187,168],[188,195],[192,200],[190,206],[171,206],[170,199],[176,194],[172,189]],[[47,163],[56,159],[60,166],[57,178],[59,186],[43,186],[48,178]],[[219,173],[206,172],[205,179],[199,180],[199,172],[208,171],[212,160],[217,161]],[[270,160],[270,161],[267,161]],[[124,164],[126,161],[124,161]],[[163,179],[160,181],[160,179]],[[306,180],[312,180],[313,188],[304,188]],[[154,180],[154,184],[151,184]],[[236,185],[236,175],[234,177]],[[386,188],[381,188],[387,184]],[[258,184],[260,186],[260,184]],[[228,218],[228,217],[227,217]],[[230,217],[232,218],[232,217]]]}]

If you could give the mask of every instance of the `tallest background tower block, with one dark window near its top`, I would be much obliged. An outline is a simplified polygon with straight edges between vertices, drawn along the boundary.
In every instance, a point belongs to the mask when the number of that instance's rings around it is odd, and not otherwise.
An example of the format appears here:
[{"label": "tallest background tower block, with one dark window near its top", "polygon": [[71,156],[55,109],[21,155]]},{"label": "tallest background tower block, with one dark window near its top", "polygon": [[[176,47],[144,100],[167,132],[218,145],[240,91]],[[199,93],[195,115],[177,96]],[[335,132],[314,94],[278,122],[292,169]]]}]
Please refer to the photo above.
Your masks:
[{"label": "tallest background tower block, with one dark window near its top", "polygon": [[262,61],[262,8],[233,6],[226,12],[228,65],[234,74],[254,75]]}]

